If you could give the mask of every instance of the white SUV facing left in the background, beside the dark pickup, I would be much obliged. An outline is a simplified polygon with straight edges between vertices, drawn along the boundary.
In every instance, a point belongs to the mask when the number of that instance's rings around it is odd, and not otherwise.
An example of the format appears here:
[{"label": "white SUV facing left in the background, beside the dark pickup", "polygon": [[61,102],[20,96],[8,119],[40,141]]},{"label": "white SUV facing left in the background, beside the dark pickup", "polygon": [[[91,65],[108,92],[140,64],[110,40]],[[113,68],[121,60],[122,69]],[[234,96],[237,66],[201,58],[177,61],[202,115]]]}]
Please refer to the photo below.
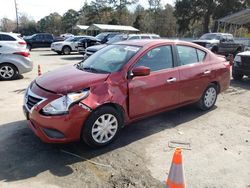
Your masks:
[{"label": "white SUV facing left in the background, beside the dark pickup", "polygon": [[84,36],[74,36],[67,38],[64,41],[53,42],[51,44],[51,50],[58,54],[69,55],[71,52],[77,51],[76,46],[77,42],[84,38]]}]

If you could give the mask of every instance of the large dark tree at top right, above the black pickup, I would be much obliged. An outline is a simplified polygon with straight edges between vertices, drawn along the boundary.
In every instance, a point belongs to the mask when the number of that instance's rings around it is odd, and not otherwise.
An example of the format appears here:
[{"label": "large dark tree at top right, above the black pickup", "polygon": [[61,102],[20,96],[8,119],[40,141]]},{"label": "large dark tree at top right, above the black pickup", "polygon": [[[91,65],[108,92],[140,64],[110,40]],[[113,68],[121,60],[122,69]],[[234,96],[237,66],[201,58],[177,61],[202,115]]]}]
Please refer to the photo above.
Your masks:
[{"label": "large dark tree at top right, above the black pickup", "polygon": [[249,0],[176,0],[175,16],[179,32],[184,34],[189,31],[190,24],[201,21],[203,33],[207,33],[211,19],[218,19],[245,9],[249,4]]}]

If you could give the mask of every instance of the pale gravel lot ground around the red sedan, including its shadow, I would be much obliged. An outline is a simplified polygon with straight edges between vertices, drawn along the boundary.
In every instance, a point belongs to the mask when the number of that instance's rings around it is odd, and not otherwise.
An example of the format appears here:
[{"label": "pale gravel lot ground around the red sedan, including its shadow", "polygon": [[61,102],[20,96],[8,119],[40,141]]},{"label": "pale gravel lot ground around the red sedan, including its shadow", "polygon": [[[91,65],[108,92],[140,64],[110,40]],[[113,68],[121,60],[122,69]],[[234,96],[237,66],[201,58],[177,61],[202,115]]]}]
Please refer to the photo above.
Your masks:
[{"label": "pale gravel lot ground around the red sedan, including its shadow", "polygon": [[32,72],[0,82],[0,187],[164,187],[170,141],[191,145],[183,151],[187,187],[250,187],[250,79],[231,81],[209,112],[188,106],[162,113],[125,127],[114,143],[93,150],[81,142],[42,143],[27,128],[21,107],[38,64],[47,72],[82,56],[35,49],[31,58]]}]

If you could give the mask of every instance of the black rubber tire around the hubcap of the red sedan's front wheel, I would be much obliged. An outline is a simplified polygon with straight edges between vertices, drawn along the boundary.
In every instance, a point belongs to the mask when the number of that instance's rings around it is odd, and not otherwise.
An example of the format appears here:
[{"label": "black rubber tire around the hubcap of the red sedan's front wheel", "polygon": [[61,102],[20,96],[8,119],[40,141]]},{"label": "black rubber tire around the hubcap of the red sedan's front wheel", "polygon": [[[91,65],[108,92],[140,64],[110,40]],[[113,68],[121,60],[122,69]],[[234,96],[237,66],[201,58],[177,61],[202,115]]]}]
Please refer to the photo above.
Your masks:
[{"label": "black rubber tire around the hubcap of the red sedan's front wheel", "polygon": [[[102,119],[102,117],[105,118],[105,116],[109,117],[108,115],[111,115],[111,117],[113,116],[114,118],[116,118],[116,119],[112,119],[112,120],[115,120],[115,122],[114,122],[114,124],[111,123],[111,125],[112,126],[117,125],[117,128],[113,128],[113,129],[116,129],[116,131],[113,130],[115,132],[115,133],[113,133],[114,134],[113,136],[110,133],[106,133],[107,137],[108,137],[108,134],[110,134],[110,137],[111,136],[112,137],[109,138],[109,140],[101,143],[101,142],[97,141],[97,138],[99,138],[99,136],[100,136],[99,139],[103,138],[104,136],[102,136],[102,135],[104,135],[105,133],[98,134],[98,133],[100,133],[100,131],[97,131],[96,135],[98,135],[98,136],[96,138],[94,138],[93,134],[95,133],[95,131],[93,129],[95,129],[95,128],[100,129],[100,127],[101,127],[103,132],[107,131],[102,126],[97,125],[96,122],[101,123],[99,120]],[[83,125],[82,132],[81,132],[81,139],[90,147],[93,147],[93,148],[102,147],[102,146],[105,146],[105,145],[111,143],[112,141],[114,141],[117,138],[117,135],[120,132],[121,127],[123,127],[123,119],[122,119],[121,114],[111,106],[103,106],[103,107],[100,107],[97,110],[93,111],[90,114],[90,116],[86,120],[85,124]],[[93,131],[94,131],[94,133],[93,133]],[[106,136],[105,136],[105,138],[106,138]]]}]

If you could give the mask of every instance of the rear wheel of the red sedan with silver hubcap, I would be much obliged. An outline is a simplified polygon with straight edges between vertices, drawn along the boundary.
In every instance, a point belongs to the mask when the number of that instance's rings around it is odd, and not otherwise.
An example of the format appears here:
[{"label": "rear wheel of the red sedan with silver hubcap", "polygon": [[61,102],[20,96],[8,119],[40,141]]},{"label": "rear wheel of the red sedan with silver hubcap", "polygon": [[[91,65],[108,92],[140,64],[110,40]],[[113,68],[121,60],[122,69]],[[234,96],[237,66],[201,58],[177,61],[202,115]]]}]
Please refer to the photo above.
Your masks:
[{"label": "rear wheel of the red sedan with silver hubcap", "polygon": [[[218,96],[218,87],[215,84],[209,84],[206,90],[203,92],[202,97],[198,102],[198,107],[201,110],[210,110],[214,107]],[[208,99],[211,97],[211,100]]]}]

